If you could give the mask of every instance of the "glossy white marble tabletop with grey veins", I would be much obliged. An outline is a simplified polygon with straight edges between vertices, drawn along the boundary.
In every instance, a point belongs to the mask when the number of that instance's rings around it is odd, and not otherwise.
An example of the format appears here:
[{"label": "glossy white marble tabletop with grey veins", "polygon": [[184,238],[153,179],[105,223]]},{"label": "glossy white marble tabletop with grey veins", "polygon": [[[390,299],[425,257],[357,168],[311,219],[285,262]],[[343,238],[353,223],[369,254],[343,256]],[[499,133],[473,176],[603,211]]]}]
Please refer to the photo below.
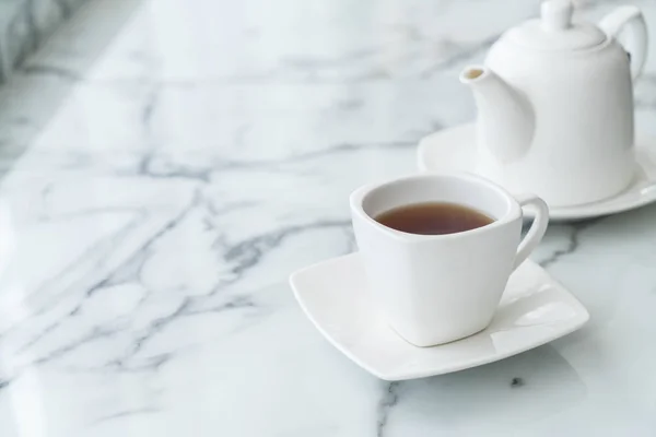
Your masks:
[{"label": "glossy white marble tabletop with grey veins", "polygon": [[[656,206],[552,226],[589,323],[452,375],[370,376],[288,285],[473,117],[457,73],[538,10],[500,3],[82,8],[0,90],[0,436],[654,436]],[[656,134],[656,45],[636,101]]]}]

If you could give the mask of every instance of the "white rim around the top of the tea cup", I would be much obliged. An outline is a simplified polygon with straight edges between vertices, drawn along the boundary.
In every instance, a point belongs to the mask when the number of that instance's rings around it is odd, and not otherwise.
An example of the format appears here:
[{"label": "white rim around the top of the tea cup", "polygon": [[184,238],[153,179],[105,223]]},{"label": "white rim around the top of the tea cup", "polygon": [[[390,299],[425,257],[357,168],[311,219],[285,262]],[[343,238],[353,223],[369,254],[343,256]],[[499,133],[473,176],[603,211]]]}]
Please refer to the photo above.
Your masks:
[{"label": "white rim around the top of the tea cup", "polygon": [[[484,185],[488,188],[491,188],[492,190],[494,190],[501,197],[505,198],[509,204],[509,209],[503,216],[495,218],[494,222],[492,222],[488,225],[484,225],[481,227],[476,227],[473,229],[458,232],[458,233],[436,234],[436,235],[412,234],[412,233],[407,233],[403,231],[394,229],[389,226],[385,226],[385,225],[378,223],[374,217],[372,217],[370,214],[367,214],[364,211],[364,208],[363,208],[364,199],[375,190],[385,188],[385,187],[394,185],[394,184],[399,184],[399,182],[409,182],[409,181],[420,180],[420,179],[444,179],[444,178],[460,179],[460,180],[473,181],[476,184]],[[353,214],[363,218],[366,223],[380,229],[382,232],[385,232],[397,238],[402,238],[405,240],[411,239],[411,240],[426,241],[426,240],[435,240],[435,239],[460,238],[464,236],[471,236],[471,235],[477,235],[477,234],[493,231],[500,226],[503,226],[509,222],[513,222],[513,221],[522,217],[522,206],[519,206],[519,203],[517,202],[517,200],[506,189],[504,189],[503,187],[501,187],[497,184],[494,184],[490,179],[487,179],[484,177],[473,175],[470,173],[430,173],[430,174],[420,174],[420,175],[412,175],[412,176],[402,176],[402,177],[398,177],[398,178],[394,178],[394,179],[388,179],[388,180],[385,180],[382,182],[367,184],[367,185],[364,185],[364,186],[358,188],[355,191],[353,191],[350,196],[349,201],[350,201],[351,211],[353,212]]]}]

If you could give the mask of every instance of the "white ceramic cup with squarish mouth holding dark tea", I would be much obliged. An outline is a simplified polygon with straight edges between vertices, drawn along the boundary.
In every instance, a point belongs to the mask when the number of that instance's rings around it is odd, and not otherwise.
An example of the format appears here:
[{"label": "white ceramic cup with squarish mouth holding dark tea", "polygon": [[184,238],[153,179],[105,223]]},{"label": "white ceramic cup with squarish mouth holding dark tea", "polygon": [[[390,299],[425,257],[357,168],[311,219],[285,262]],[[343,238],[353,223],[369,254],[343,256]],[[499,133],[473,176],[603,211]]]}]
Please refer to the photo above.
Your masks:
[{"label": "white ceramic cup with squarish mouth holding dark tea", "polygon": [[[391,328],[418,346],[452,342],[488,327],[511,273],[540,243],[549,223],[540,198],[515,199],[488,179],[468,174],[419,175],[370,185],[355,190],[350,201],[371,291]],[[456,234],[418,235],[375,221],[394,208],[422,202],[457,203],[494,222]],[[536,211],[520,241],[524,205]]]}]

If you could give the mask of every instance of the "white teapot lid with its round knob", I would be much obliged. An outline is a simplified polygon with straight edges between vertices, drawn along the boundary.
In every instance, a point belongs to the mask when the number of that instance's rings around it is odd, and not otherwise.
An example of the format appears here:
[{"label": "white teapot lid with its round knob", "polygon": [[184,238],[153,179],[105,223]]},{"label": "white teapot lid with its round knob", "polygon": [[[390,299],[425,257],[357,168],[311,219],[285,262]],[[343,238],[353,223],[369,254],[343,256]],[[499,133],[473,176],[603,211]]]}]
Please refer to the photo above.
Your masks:
[{"label": "white teapot lid with its round knob", "polygon": [[606,40],[606,34],[589,23],[573,23],[571,0],[549,0],[541,5],[540,19],[529,20],[507,31],[503,39],[540,50],[584,50]]}]

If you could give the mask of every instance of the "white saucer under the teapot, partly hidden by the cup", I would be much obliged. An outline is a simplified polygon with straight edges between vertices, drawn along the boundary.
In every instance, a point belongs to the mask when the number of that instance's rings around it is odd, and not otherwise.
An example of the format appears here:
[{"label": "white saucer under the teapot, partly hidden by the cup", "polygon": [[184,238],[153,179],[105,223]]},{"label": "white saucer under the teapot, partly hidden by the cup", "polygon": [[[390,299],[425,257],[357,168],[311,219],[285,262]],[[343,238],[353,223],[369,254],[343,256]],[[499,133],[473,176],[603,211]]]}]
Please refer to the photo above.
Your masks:
[{"label": "white saucer under the teapot, partly hidden by the cup", "polygon": [[[552,221],[593,218],[633,210],[656,201],[656,141],[636,141],[637,172],[635,180],[622,193],[599,202],[576,206],[551,206]],[[461,125],[444,129],[419,143],[419,168],[423,172],[462,170],[476,173],[475,128]]]}]

